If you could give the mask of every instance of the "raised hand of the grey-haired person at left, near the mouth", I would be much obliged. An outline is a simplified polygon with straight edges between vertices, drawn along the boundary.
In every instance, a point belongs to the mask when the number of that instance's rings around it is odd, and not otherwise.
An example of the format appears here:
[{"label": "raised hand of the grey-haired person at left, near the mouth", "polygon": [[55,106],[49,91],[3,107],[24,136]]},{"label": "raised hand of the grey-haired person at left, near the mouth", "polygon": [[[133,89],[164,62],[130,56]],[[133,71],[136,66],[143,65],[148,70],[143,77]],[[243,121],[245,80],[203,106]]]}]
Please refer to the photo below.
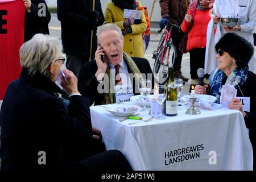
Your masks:
[{"label": "raised hand of the grey-haired person at left, near the mouth", "polygon": [[63,87],[65,92],[67,92],[69,95],[72,93],[79,93],[77,89],[77,78],[74,73],[68,69],[63,70],[63,73],[65,74],[66,78],[61,76],[60,85]]}]

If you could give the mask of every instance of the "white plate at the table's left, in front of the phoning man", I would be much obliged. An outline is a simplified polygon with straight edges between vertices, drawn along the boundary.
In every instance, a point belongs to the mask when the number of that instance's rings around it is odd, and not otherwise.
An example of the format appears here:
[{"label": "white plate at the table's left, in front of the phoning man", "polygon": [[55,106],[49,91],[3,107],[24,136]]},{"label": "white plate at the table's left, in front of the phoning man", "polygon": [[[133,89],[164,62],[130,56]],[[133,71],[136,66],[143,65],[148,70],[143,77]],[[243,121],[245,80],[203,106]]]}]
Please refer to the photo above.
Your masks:
[{"label": "white plate at the table's left, in front of the phoning man", "polygon": [[[137,105],[131,105],[131,104],[115,104],[115,105],[108,105],[108,106],[102,106],[105,107],[106,111],[109,111],[110,113],[118,116],[118,117],[128,117],[130,115],[133,115],[134,113],[137,113],[138,111],[142,110],[142,107],[137,106]],[[136,107],[137,109],[134,111],[117,111],[117,110],[122,110],[124,107]]]}]

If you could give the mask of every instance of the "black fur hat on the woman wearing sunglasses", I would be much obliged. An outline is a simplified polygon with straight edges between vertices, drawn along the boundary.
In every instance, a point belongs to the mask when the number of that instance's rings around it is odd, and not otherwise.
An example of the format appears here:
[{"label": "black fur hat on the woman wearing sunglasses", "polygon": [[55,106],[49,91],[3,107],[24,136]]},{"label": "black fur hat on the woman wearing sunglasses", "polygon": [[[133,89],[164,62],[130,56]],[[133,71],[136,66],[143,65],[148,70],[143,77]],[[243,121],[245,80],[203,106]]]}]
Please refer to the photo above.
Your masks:
[{"label": "black fur hat on the woman wearing sunglasses", "polygon": [[216,52],[218,49],[222,49],[234,57],[238,68],[248,65],[254,52],[253,46],[245,38],[234,33],[227,33],[222,36],[215,46]]}]

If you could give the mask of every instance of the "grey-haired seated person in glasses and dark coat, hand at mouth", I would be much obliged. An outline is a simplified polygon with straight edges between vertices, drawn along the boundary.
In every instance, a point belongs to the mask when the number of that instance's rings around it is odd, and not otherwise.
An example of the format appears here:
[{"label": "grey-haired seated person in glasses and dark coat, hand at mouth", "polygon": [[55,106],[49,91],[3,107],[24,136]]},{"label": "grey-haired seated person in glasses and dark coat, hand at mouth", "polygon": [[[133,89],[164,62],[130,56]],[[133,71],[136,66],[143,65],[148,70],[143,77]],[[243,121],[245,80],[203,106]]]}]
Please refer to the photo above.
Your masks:
[{"label": "grey-haired seated person in glasses and dark coat, hand at mouth", "polygon": [[92,128],[89,101],[67,69],[61,86],[69,94],[68,111],[57,97],[63,93],[55,84],[64,63],[59,40],[36,34],[20,48],[20,63],[22,73],[1,107],[1,170],[131,169],[119,151],[97,154],[104,151],[100,131]]}]

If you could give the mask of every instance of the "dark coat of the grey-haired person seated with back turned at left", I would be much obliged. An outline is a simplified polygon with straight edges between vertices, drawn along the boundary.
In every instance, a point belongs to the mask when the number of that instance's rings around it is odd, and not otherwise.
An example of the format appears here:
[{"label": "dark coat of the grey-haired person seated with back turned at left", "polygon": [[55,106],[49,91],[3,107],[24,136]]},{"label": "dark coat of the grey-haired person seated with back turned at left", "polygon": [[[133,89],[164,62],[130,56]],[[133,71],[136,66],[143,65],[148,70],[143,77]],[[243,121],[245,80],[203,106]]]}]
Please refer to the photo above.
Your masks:
[{"label": "dark coat of the grey-haired person seated with back turned at left", "polygon": [[[89,156],[89,101],[72,96],[67,113],[55,95],[61,92],[40,73],[31,78],[26,69],[11,82],[0,113],[2,170],[56,168]],[[46,165],[38,164],[39,151],[46,152]]]}]

